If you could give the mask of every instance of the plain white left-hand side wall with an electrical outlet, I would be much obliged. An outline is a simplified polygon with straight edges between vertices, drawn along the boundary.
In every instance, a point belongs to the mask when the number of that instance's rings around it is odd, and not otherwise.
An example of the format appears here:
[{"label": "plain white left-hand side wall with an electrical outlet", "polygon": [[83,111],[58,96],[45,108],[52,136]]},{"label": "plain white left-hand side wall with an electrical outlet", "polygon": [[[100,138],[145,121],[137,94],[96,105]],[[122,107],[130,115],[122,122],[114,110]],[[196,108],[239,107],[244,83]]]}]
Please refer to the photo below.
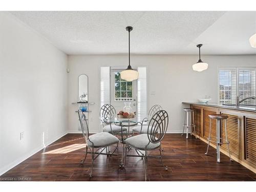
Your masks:
[{"label": "plain white left-hand side wall with an electrical outlet", "polygon": [[67,132],[67,55],[0,12],[0,65],[2,175]]}]

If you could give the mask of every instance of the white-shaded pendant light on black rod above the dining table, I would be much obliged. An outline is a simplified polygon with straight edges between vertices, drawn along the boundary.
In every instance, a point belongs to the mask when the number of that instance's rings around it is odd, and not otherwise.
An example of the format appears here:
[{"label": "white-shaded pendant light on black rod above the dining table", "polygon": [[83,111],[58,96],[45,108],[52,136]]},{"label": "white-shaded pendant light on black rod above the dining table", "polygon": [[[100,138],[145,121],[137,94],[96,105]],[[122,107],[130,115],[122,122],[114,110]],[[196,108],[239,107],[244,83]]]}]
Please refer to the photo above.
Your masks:
[{"label": "white-shaded pendant light on black rod above the dining table", "polygon": [[130,65],[130,32],[133,30],[133,27],[126,27],[126,31],[129,32],[129,66],[124,71],[121,71],[121,79],[126,81],[133,81],[138,79],[139,73],[138,71],[133,70],[132,66]]}]

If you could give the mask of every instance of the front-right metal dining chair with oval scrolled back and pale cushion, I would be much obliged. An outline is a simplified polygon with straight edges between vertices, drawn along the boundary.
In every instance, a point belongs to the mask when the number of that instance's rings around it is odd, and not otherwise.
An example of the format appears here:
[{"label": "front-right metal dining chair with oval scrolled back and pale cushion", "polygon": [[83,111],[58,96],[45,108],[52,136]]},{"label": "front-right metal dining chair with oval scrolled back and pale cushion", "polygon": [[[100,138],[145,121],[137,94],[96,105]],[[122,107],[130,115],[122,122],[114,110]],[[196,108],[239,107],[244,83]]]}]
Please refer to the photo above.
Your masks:
[{"label": "front-right metal dining chair with oval scrolled back and pale cushion", "polygon": [[[162,150],[161,150],[161,141],[164,138],[164,135],[168,127],[168,114],[164,110],[156,112],[151,120],[150,125],[148,125],[147,134],[139,134],[125,140],[125,164],[127,158],[127,149],[129,147],[135,148],[135,150],[145,151],[145,155],[142,154],[142,158],[145,163],[145,181],[147,180],[147,158],[148,157],[159,157],[160,161],[165,170],[168,170],[168,167],[163,164],[162,161]],[[160,156],[150,156],[148,152],[153,152],[159,150]]]}]

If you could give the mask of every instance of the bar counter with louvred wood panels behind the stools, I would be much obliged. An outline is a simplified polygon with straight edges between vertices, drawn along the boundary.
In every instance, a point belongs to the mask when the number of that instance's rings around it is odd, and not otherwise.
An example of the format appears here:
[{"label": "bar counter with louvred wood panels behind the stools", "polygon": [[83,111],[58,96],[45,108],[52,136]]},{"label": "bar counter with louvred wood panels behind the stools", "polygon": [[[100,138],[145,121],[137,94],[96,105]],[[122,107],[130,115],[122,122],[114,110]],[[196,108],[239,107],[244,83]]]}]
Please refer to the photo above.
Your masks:
[{"label": "bar counter with louvred wood panels behind the stools", "polygon": [[[233,160],[256,173],[256,113],[218,107],[191,105],[194,109],[197,136],[207,142],[209,137],[210,114],[225,114],[227,119],[227,137]],[[225,121],[221,124],[221,136],[225,142]],[[216,120],[211,120],[211,139],[216,141]],[[216,143],[210,145],[216,148]],[[227,145],[221,145],[221,152],[228,155]]]}]

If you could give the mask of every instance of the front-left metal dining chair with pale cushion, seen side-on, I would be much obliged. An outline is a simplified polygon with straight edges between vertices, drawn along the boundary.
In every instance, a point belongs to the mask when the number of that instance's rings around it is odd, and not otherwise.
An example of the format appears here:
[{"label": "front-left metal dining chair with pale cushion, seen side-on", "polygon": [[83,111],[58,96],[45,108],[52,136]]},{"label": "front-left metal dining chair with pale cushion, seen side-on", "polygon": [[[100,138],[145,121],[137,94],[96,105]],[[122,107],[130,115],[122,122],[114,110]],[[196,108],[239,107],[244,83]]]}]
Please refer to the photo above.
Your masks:
[{"label": "front-left metal dining chair with pale cushion, seen side-on", "polygon": [[[115,137],[114,135],[112,135],[110,133],[106,133],[106,132],[96,133],[96,134],[89,136],[89,128],[88,128],[86,115],[84,115],[83,112],[79,109],[78,116],[79,116],[79,120],[80,120],[80,124],[81,124],[82,135],[84,137],[84,140],[86,140],[86,156],[84,157],[83,160],[81,160],[81,164],[83,164],[84,161],[86,160],[88,153],[92,154],[91,173],[90,173],[89,177],[90,178],[92,177],[94,160],[100,154],[102,154],[102,152],[109,146],[115,147],[115,150],[113,151],[113,153],[115,151],[117,151],[117,161],[118,161],[118,165],[119,165],[119,158],[118,158],[119,139],[117,137]],[[97,149],[95,150],[95,148],[97,148]],[[88,152],[88,149],[90,150],[90,152]],[[109,155],[109,154],[105,154],[105,155]]]}]

